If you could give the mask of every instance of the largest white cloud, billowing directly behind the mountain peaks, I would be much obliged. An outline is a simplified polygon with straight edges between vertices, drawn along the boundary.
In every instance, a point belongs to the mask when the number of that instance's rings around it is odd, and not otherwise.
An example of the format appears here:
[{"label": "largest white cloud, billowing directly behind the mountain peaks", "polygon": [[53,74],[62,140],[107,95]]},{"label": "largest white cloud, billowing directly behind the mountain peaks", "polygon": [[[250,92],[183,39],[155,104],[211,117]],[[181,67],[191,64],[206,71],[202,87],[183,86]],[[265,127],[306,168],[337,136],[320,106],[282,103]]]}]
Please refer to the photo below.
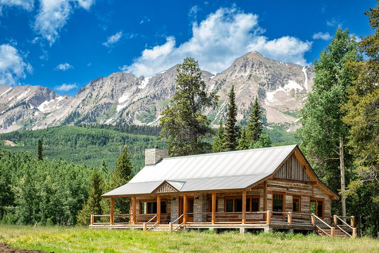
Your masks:
[{"label": "largest white cloud, billowing directly behind the mountain peaks", "polygon": [[310,50],[311,42],[292,36],[270,40],[263,33],[258,15],[236,8],[220,8],[200,23],[192,23],[192,36],[188,41],[176,45],[175,37],[167,36],[165,43],[143,50],[132,64],[120,69],[137,76],[150,76],[191,56],[199,61],[203,70],[217,73],[250,51],[284,62],[307,64],[304,54]]}]

